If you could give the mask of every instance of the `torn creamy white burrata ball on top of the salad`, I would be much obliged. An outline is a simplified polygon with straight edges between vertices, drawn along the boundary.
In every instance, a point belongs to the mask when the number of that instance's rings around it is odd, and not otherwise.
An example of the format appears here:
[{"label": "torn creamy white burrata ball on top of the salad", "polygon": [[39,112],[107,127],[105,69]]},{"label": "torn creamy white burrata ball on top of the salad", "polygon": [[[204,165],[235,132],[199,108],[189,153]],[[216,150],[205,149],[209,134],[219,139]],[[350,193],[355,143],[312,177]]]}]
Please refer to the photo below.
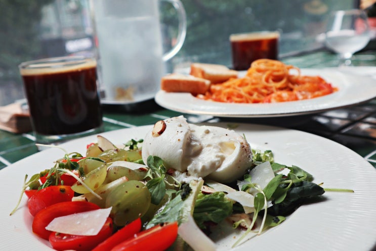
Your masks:
[{"label": "torn creamy white burrata ball on top of the salad", "polygon": [[161,158],[167,168],[194,177],[229,183],[244,174],[252,163],[248,142],[233,130],[188,124],[183,116],[164,120],[164,131],[144,137],[142,158]]}]

